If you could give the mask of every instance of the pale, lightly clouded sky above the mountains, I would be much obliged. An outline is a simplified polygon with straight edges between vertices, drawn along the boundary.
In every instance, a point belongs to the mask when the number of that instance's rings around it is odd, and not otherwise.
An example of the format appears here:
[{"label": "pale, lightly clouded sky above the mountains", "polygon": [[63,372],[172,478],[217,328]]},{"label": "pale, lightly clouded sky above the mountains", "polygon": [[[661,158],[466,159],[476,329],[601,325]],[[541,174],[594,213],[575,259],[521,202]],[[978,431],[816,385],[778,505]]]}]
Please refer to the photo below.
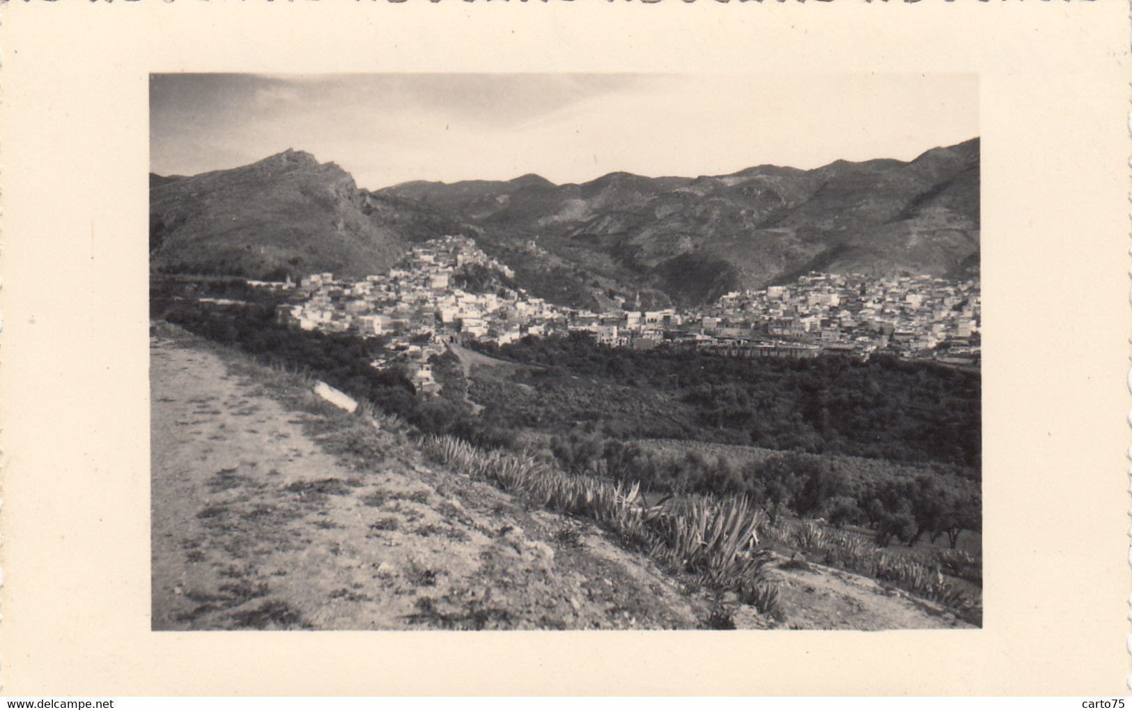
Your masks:
[{"label": "pale, lightly clouded sky above the mountains", "polygon": [[237,168],[294,148],[368,189],[911,160],[978,127],[974,74],[149,77],[153,172]]}]

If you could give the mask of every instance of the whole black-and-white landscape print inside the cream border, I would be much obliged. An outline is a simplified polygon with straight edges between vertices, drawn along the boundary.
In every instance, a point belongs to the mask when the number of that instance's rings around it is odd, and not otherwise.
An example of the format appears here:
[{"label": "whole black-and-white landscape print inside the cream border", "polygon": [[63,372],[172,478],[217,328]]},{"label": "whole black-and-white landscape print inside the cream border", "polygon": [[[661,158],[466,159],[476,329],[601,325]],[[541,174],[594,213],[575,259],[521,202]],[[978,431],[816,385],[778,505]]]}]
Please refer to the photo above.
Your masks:
[{"label": "whole black-and-white landscape print inside the cream border", "polygon": [[149,76],[152,628],[983,625],[978,76]]}]

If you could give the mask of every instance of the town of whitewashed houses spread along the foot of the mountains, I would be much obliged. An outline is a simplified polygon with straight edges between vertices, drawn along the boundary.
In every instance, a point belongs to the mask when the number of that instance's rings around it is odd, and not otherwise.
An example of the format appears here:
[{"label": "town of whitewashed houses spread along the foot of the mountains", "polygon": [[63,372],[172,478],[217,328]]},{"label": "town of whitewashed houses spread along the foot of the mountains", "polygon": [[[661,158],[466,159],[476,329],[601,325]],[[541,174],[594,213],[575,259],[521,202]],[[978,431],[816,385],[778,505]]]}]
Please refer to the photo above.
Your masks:
[{"label": "town of whitewashed houses spread along the foot of the mountains", "polygon": [[395,354],[372,366],[404,362],[424,392],[439,388],[429,359],[448,343],[506,344],[573,332],[617,348],[668,344],[737,357],[886,353],[979,365],[978,280],[814,273],[788,285],[727,293],[701,308],[592,313],[532,297],[513,277],[472,239],[446,236],[413,247],[387,274],[302,279],[277,315],[307,331],[386,337]]}]

